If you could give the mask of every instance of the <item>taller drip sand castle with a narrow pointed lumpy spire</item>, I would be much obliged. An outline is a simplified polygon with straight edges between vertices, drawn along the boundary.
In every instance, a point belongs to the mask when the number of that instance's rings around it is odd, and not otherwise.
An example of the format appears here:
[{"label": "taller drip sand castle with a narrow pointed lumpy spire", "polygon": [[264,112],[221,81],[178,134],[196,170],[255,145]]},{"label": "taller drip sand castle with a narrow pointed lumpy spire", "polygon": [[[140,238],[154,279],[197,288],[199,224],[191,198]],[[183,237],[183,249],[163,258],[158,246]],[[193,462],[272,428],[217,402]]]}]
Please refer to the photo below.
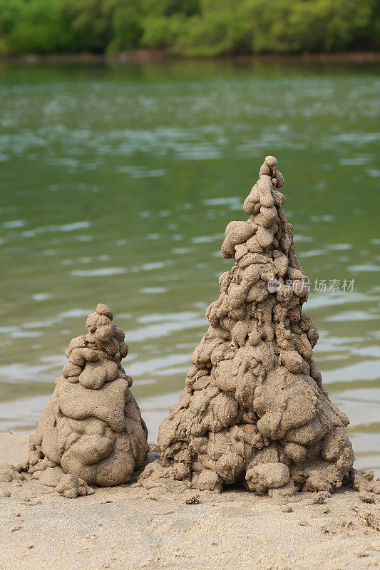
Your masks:
[{"label": "taller drip sand castle with a narrow pointed lumpy spire", "polygon": [[250,218],[227,225],[222,254],[235,265],[220,276],[210,327],[160,425],[160,463],[145,468],[146,480],[286,496],[332,491],[351,470],[349,420],[312,359],[318,331],[302,311],[307,276],[277,190],[283,182],[277,160],[266,157],[244,202]]}]

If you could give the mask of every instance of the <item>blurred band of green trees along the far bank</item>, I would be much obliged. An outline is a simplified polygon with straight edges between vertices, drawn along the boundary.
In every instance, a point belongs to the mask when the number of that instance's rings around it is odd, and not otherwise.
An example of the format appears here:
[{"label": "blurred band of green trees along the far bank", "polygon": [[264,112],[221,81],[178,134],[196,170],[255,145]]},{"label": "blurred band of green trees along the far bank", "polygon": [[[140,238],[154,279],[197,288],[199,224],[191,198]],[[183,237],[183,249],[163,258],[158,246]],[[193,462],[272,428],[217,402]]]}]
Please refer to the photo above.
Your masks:
[{"label": "blurred band of green trees along the far bank", "polygon": [[379,0],[0,0],[0,54],[379,49]]}]

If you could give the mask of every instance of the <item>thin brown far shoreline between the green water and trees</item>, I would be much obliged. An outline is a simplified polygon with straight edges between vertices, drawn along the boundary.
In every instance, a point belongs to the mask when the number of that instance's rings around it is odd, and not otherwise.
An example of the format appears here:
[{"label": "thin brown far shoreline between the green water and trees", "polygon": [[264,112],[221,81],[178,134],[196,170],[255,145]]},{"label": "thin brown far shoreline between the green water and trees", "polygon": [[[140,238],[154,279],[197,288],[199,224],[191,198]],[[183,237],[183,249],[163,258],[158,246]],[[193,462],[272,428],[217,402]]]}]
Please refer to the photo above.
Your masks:
[{"label": "thin brown far shoreline between the green water and trees", "polygon": [[172,63],[188,61],[230,61],[234,63],[380,63],[380,52],[227,54],[222,56],[180,56],[163,50],[135,49],[113,56],[95,53],[1,55],[0,63]]}]

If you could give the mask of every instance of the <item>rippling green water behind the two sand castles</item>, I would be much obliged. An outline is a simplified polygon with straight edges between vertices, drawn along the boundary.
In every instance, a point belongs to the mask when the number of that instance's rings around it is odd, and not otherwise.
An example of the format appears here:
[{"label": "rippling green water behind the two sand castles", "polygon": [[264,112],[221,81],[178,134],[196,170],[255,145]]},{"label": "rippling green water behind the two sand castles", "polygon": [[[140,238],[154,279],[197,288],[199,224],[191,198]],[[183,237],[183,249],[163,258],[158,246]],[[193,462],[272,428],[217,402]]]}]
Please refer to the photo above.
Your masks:
[{"label": "rippling green water behind the two sand castles", "polygon": [[[220,245],[277,156],[314,358],[380,467],[379,69],[225,61],[0,66],[0,430],[31,430],[86,314],[111,306],[150,437],[178,398]],[[377,162],[377,164],[379,164]],[[314,281],[354,279],[354,290]]]}]

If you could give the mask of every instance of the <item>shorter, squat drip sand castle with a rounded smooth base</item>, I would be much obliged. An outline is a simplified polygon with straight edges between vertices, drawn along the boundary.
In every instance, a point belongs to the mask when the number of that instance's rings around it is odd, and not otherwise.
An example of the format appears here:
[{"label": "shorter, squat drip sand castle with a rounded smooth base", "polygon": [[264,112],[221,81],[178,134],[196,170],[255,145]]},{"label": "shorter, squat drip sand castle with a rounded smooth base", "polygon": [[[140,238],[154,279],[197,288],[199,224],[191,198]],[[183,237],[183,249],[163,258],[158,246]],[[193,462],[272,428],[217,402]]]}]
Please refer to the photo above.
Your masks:
[{"label": "shorter, squat drip sand castle with a rounded smooth base", "polygon": [[88,315],[86,335],[73,338],[30,436],[29,473],[66,497],[88,494],[88,484],[130,480],[146,460],[148,431],[120,362],[128,354],[123,331],[108,306]]}]

